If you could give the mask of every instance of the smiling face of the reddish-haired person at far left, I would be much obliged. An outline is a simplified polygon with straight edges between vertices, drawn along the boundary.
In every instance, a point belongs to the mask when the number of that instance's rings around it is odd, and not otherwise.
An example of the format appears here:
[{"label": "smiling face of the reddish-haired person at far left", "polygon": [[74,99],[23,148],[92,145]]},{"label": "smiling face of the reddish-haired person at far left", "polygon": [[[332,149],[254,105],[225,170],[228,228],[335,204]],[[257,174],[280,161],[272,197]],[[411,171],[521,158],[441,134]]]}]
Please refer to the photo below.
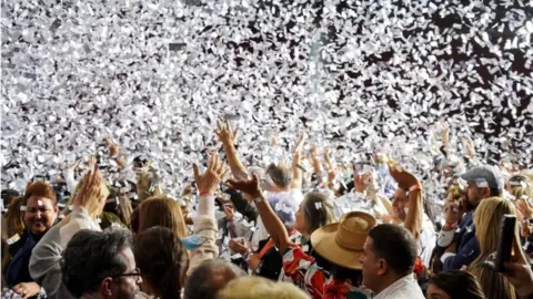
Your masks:
[{"label": "smiling face of the reddish-haired person at far left", "polygon": [[58,218],[58,206],[47,197],[31,196],[24,212],[24,224],[36,235],[44,234]]}]

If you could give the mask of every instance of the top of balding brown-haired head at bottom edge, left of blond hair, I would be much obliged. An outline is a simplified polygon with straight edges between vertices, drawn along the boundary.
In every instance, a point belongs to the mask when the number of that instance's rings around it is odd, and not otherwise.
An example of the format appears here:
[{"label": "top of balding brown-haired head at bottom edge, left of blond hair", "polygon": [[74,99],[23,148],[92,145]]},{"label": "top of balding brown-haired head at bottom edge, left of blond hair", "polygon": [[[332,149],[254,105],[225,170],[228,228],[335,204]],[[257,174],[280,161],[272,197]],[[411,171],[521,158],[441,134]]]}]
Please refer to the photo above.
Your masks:
[{"label": "top of balding brown-haired head at bottom edge, left of blond hair", "polygon": [[229,261],[204,261],[187,277],[184,299],[215,299],[228,282],[241,276],[245,276],[244,271]]}]

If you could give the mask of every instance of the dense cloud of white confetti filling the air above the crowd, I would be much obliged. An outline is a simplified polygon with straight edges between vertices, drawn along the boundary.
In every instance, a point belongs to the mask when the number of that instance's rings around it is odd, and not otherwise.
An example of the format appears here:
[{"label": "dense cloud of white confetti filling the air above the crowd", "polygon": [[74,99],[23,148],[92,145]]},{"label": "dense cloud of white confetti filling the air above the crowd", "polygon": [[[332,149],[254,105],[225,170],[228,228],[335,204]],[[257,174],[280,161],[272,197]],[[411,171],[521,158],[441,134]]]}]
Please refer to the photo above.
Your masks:
[{"label": "dense cloud of white confetti filling the air above the crowd", "polygon": [[531,164],[533,7],[507,2],[2,1],[2,187],[111,136],[179,189],[223,115],[247,162],[305,128],[339,161],[384,146],[429,169],[447,120],[452,144]]}]

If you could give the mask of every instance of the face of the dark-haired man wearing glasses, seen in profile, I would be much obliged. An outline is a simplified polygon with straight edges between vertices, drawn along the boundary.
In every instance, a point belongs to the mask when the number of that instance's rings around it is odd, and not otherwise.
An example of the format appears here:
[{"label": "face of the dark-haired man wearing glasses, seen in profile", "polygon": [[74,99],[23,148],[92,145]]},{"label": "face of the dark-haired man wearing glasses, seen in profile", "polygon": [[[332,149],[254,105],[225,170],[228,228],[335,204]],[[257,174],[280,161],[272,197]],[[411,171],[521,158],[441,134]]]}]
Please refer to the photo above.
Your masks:
[{"label": "face of the dark-haired man wearing glasses, seen in profile", "polygon": [[137,265],[135,257],[131,248],[122,249],[118,252],[125,261],[127,270],[124,276],[115,279],[113,289],[113,299],[133,299],[137,292],[139,292],[139,285],[142,283],[142,278],[131,274],[135,274]]}]

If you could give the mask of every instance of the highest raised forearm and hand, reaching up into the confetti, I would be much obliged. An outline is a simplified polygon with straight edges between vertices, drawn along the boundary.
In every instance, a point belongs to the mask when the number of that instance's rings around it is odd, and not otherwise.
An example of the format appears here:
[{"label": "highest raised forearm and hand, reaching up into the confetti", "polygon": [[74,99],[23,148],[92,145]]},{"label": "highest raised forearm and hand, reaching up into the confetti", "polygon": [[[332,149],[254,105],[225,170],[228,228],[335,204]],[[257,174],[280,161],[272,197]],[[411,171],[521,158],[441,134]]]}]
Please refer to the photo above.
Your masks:
[{"label": "highest raised forearm and hand, reaching up into the confetti", "polygon": [[248,171],[239,159],[239,154],[235,148],[238,131],[238,128],[233,131],[230,121],[227,120],[225,122],[218,123],[218,128],[214,131],[214,134],[219,136],[219,140],[222,143],[231,174],[238,179],[244,179],[248,177]]}]

